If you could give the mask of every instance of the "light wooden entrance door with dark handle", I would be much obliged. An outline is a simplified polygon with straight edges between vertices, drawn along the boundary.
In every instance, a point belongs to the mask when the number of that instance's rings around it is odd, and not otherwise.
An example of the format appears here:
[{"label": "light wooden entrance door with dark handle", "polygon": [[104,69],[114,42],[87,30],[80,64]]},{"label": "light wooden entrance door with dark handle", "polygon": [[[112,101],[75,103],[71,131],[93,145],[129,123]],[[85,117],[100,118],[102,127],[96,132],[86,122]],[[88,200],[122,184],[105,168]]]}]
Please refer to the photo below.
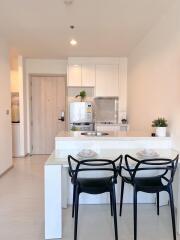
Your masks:
[{"label": "light wooden entrance door with dark handle", "polygon": [[55,136],[65,130],[60,119],[65,112],[65,78],[60,76],[31,77],[32,154],[50,154]]}]

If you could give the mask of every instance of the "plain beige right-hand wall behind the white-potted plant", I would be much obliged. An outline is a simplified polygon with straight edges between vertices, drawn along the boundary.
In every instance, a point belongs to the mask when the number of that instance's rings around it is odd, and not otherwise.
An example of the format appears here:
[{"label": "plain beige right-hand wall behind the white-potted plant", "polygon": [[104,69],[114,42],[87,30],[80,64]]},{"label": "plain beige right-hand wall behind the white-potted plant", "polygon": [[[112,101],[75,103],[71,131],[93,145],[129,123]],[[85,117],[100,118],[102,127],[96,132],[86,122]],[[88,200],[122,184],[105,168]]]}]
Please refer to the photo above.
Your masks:
[{"label": "plain beige right-hand wall behind the white-potted plant", "polygon": [[129,56],[128,118],[133,130],[151,129],[154,118],[169,121],[180,149],[180,1]]}]

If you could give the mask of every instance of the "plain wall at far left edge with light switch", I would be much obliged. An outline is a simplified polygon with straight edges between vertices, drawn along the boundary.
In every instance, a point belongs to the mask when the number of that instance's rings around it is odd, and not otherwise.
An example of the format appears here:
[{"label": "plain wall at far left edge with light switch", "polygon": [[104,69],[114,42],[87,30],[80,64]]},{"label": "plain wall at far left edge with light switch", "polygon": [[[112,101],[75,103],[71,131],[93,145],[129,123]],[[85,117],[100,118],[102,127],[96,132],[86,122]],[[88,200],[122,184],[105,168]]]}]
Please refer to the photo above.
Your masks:
[{"label": "plain wall at far left edge with light switch", "polygon": [[0,40],[0,53],[0,174],[2,174],[12,166],[9,51],[2,40]]}]

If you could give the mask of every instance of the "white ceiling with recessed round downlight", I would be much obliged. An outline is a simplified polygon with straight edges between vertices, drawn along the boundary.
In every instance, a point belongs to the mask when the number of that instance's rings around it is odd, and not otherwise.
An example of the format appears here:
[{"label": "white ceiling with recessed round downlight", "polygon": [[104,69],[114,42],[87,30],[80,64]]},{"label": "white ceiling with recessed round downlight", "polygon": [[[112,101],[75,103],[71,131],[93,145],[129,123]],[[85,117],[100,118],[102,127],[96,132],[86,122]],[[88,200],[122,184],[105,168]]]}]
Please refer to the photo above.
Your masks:
[{"label": "white ceiling with recessed round downlight", "polygon": [[127,56],[173,2],[0,0],[0,35],[25,57]]}]

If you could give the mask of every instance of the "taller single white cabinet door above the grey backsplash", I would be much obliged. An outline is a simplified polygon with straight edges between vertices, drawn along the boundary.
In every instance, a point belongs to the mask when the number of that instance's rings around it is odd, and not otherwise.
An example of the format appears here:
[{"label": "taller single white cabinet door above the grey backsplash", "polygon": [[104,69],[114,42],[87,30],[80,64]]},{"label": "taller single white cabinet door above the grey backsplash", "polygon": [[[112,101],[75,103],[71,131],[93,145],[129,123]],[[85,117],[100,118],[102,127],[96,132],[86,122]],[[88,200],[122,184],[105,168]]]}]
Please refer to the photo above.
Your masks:
[{"label": "taller single white cabinet door above the grey backsplash", "polygon": [[99,97],[119,96],[119,68],[118,64],[96,65],[95,94]]}]

